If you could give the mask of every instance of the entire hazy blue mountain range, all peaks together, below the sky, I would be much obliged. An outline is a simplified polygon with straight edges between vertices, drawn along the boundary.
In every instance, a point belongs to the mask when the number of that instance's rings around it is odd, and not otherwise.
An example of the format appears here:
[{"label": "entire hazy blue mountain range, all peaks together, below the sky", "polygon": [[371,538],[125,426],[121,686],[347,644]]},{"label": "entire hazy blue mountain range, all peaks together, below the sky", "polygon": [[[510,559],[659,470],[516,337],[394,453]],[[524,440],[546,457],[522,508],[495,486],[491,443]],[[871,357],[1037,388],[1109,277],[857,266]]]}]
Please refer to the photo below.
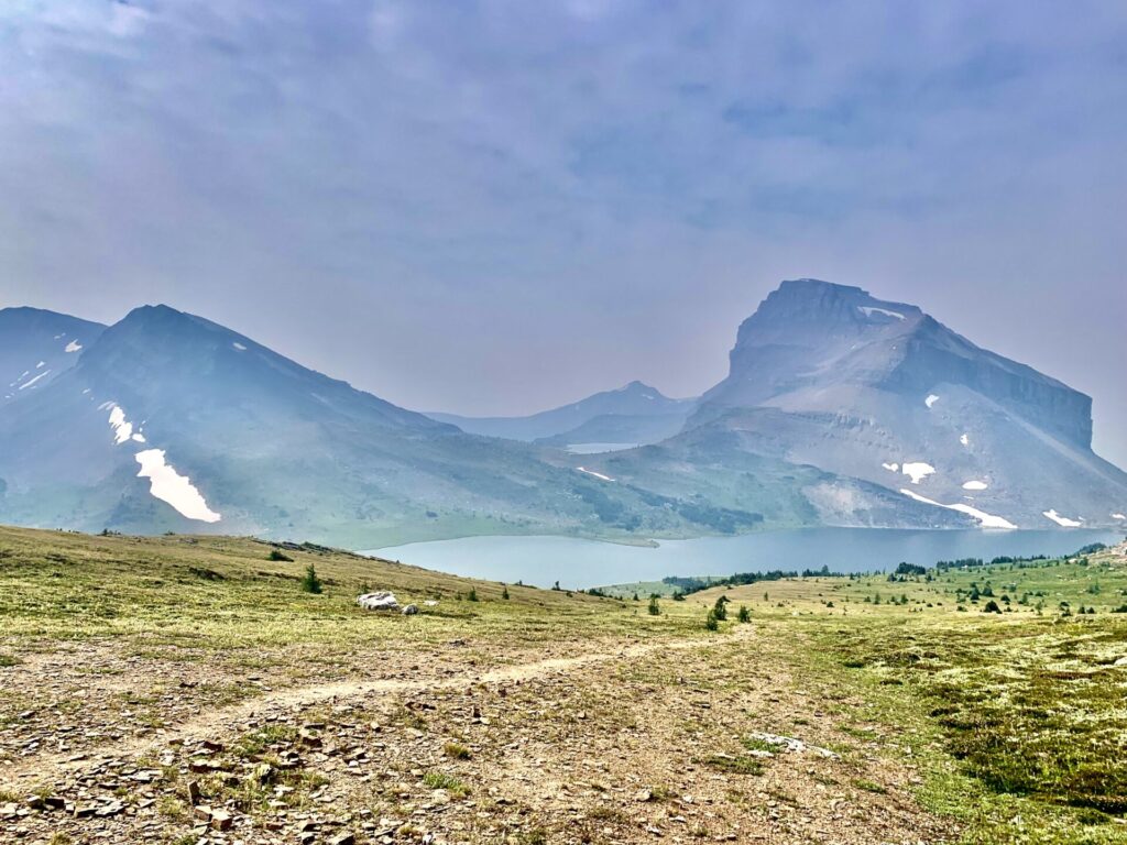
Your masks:
[{"label": "entire hazy blue mountain range, all peaks together, below the sky", "polygon": [[0,376],[6,523],[354,548],[1127,526],[1088,397],[914,305],[815,279],[762,303],[699,399],[631,382],[530,417],[421,415],[163,305],[112,327],[2,310]]}]

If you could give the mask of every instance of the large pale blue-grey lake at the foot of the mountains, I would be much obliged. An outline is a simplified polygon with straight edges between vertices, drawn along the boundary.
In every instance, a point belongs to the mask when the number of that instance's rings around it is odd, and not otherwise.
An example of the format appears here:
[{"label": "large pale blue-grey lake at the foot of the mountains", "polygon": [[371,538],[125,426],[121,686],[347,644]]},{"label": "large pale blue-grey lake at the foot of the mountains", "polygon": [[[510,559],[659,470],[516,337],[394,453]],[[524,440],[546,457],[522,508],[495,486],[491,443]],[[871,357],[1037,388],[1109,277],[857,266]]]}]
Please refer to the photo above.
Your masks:
[{"label": "large pale blue-grey lake at the foot of the mountains", "polygon": [[894,569],[900,561],[1067,554],[1089,543],[1118,543],[1112,531],[902,531],[804,528],[726,537],[665,540],[656,548],[553,536],[483,536],[409,543],[361,552],[494,581],[567,589],[671,575],[731,575],[770,569],[837,572]]}]

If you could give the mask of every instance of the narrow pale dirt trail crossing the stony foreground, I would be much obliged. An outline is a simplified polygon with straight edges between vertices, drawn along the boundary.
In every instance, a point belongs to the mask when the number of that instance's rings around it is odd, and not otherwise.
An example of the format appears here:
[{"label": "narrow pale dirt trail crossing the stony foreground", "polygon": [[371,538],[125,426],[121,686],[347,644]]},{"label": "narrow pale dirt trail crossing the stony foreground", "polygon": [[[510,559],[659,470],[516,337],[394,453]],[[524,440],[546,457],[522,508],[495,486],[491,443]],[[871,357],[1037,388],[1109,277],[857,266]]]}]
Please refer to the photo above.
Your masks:
[{"label": "narrow pale dirt trail crossing the stony foreground", "polygon": [[[16,760],[0,767],[0,790],[26,790],[28,783],[51,780],[69,771],[78,771],[97,763],[98,759],[136,756],[145,750],[167,746],[177,739],[208,735],[223,730],[237,730],[240,722],[268,711],[292,710],[325,701],[347,701],[373,693],[410,693],[427,690],[459,690],[473,684],[516,683],[544,677],[552,674],[582,669],[610,660],[631,660],[654,651],[683,651],[706,648],[743,639],[753,632],[752,625],[742,625],[726,638],[677,640],[673,642],[650,642],[625,646],[613,650],[592,651],[577,657],[547,658],[494,669],[471,669],[443,677],[375,678],[372,681],[341,681],[312,686],[289,687],[256,696],[249,701],[208,710],[179,724],[161,728],[152,735],[107,742],[80,755],[44,755],[26,762]],[[2,764],[0,764],[2,765]]]}]

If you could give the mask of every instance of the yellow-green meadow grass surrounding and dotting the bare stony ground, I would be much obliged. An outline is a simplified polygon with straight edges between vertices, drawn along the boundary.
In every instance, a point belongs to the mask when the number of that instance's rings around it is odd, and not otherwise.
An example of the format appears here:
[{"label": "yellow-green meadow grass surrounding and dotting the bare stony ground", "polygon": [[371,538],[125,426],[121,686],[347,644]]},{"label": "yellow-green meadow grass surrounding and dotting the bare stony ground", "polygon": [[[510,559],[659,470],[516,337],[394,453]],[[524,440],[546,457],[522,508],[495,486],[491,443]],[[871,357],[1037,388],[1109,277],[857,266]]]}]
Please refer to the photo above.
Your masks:
[{"label": "yellow-green meadow grass surrounding and dotting the bare stony ground", "polygon": [[[23,679],[41,653],[89,646],[128,660],[131,675],[153,678],[206,667],[214,670],[211,679],[184,694],[202,706],[220,706],[256,694],[241,683],[247,673],[275,687],[313,684],[349,676],[363,656],[380,650],[424,660],[456,642],[460,661],[483,667],[539,658],[545,646],[582,653],[625,641],[700,640],[706,613],[726,594],[734,607],[751,608],[751,624],[722,625],[711,640],[716,648],[696,652],[696,664],[678,662],[675,671],[628,664],[620,678],[678,688],[691,678],[690,688],[710,694],[789,684],[804,701],[817,702],[818,712],[795,712],[778,724],[758,724],[747,713],[722,731],[698,719],[687,722],[686,737],[703,742],[696,762],[710,776],[761,775],[769,765],[774,776],[784,766],[749,754],[779,750],[769,742],[745,736],[735,754],[720,751],[733,751],[740,733],[796,730],[813,741],[820,737],[850,765],[894,759],[917,773],[915,799],[951,819],[965,843],[1127,842],[1127,666],[1117,665],[1127,655],[1127,614],[1112,613],[1127,602],[1122,558],[1095,554],[894,581],[820,577],[727,586],[684,602],[662,601],[660,615],[651,616],[647,602],[658,590],[650,585],[639,585],[639,602],[630,601],[637,588],[630,586],[623,602],[506,588],[344,552],[287,549],[292,561],[268,560],[269,549],[231,537],[0,528],[0,677],[21,678],[0,684],[0,730],[19,724],[20,712],[39,712],[48,703]],[[301,589],[310,564],[322,581],[320,595]],[[391,589],[423,613],[365,612],[355,605],[362,587]],[[467,599],[471,594],[477,601]],[[427,599],[437,606],[427,607]],[[988,601],[1002,612],[984,613]],[[1081,605],[1095,613],[1077,613]],[[725,650],[734,631],[755,639]],[[156,681],[151,686],[115,694],[114,701],[140,711],[139,719],[156,719],[160,687]],[[587,691],[594,697],[582,703],[587,718],[633,723],[637,714],[610,715],[612,702],[595,693]],[[66,692],[50,706],[68,714],[81,702]],[[578,706],[539,713],[535,724],[570,724]],[[469,741],[428,719],[407,708],[389,713],[392,723]],[[225,755],[269,762],[294,738],[293,728],[269,726],[239,737]],[[476,748],[479,741],[474,737]],[[459,741],[446,741],[442,751],[462,776],[478,762]],[[860,768],[837,776],[870,793],[867,801],[891,784]],[[469,794],[451,772],[428,771],[421,782],[453,797]],[[312,784],[293,785],[287,802],[300,806]],[[256,812],[269,795],[254,783],[207,790]],[[898,785],[895,791],[899,800]],[[162,808],[177,811],[186,808]]]}]

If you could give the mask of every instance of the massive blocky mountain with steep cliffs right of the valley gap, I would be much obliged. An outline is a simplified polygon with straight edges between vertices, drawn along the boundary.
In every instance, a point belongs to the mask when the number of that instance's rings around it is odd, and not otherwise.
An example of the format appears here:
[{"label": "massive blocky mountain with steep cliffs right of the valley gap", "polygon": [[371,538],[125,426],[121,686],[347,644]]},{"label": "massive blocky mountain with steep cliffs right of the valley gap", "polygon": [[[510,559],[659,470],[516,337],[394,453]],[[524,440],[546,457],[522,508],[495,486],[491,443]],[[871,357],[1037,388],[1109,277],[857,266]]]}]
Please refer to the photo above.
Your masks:
[{"label": "massive blocky mountain with steep cliffs right of the valley gap", "polygon": [[804,488],[829,524],[871,523],[882,489],[935,526],[1121,526],[1127,474],[1092,452],[1091,408],[915,305],[797,279],[739,327],[728,376],[684,433],[592,463],[649,487],[678,465],[715,484],[748,456],[817,466],[852,480]]}]

